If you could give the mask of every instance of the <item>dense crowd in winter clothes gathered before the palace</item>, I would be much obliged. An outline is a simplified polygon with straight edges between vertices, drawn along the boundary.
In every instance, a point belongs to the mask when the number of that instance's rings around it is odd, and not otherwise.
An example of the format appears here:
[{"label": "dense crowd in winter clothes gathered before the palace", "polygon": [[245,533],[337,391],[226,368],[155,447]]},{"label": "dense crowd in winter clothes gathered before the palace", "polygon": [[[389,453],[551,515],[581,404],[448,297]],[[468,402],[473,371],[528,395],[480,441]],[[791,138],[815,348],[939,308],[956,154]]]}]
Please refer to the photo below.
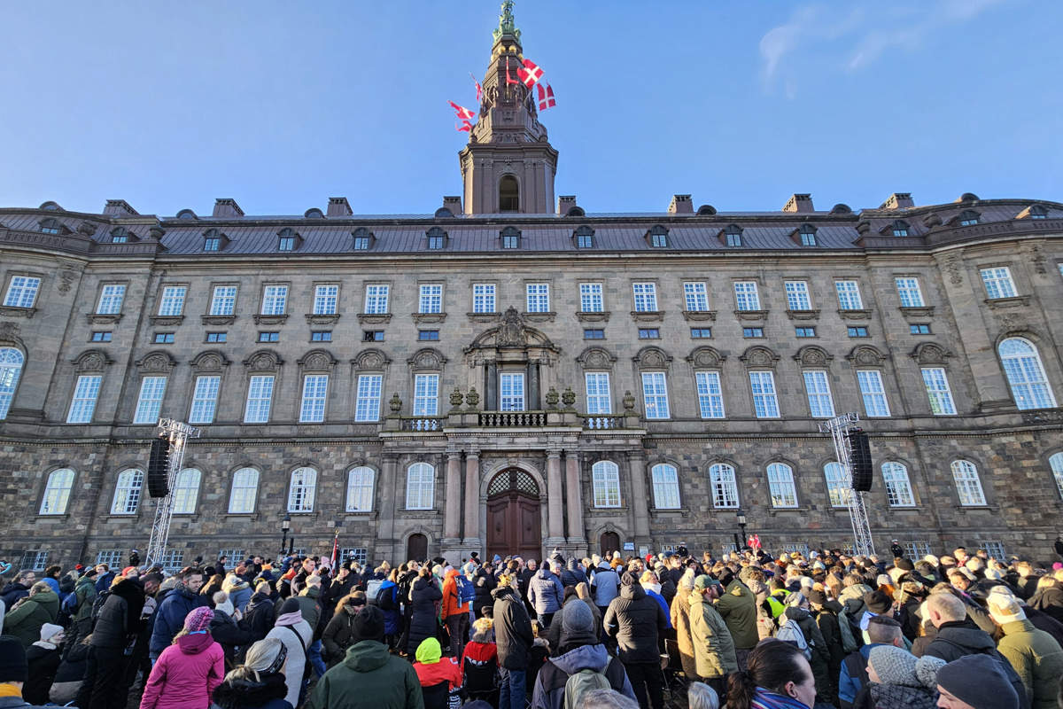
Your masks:
[{"label": "dense crowd in winter clothes gathered before the palace", "polygon": [[0,709],[1063,708],[1063,563],[891,552],[21,571]]}]

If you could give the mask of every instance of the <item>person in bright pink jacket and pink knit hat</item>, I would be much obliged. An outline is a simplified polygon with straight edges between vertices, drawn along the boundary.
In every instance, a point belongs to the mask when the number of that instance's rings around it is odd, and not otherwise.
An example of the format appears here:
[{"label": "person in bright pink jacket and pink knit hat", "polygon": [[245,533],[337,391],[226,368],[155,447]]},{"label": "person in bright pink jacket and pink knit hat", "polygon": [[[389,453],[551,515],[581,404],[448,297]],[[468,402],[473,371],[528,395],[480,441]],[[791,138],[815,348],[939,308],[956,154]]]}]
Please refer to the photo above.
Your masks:
[{"label": "person in bright pink jacket and pink knit hat", "polygon": [[207,709],[225,678],[225,653],[210,637],[214,611],[196,608],[148,676],[140,709]]}]

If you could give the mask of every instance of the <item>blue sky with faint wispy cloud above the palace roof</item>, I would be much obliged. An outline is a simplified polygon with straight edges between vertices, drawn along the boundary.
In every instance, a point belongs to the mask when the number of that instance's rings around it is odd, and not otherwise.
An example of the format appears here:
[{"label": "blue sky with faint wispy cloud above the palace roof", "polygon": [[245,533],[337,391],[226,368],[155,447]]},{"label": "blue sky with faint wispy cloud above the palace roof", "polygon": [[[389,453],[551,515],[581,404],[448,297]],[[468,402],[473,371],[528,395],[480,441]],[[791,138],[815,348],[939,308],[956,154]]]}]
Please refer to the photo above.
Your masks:
[{"label": "blue sky with faint wispy cloud above the palace roof", "polygon": [[[6,2],[0,206],[429,213],[460,193],[499,5]],[[1063,201],[1063,3],[518,0],[589,212]]]}]

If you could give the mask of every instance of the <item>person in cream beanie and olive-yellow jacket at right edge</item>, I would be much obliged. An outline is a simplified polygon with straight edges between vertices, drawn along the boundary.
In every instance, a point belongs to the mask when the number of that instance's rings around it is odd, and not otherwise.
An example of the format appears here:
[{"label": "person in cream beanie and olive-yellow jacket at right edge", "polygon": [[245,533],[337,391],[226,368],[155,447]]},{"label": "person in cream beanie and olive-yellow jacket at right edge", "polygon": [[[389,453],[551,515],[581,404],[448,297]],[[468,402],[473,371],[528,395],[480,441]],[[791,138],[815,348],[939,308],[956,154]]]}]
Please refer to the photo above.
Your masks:
[{"label": "person in cream beanie and olive-yellow jacket at right edge", "polygon": [[1032,698],[1032,709],[1057,709],[1063,677],[1063,648],[1049,634],[1033,627],[1010,593],[990,593],[988,608],[1003,638],[997,651],[1018,674]]}]

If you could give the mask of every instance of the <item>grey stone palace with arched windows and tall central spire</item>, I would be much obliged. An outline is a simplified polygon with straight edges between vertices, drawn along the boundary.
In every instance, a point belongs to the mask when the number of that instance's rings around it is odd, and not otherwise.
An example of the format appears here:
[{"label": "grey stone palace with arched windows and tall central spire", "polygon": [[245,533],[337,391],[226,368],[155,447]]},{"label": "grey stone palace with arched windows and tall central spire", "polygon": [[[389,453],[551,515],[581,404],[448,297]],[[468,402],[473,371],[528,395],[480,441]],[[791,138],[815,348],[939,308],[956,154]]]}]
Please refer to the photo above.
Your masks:
[{"label": "grey stone palace with arched windows and tall central spire", "polygon": [[[1063,204],[594,214],[505,9],[463,193],[427,215],[0,209],[0,554],[144,550],[158,418],[202,429],[167,565],[851,541],[820,424],[870,433],[879,548],[1050,556]],[[516,74],[514,74],[516,75]]]}]

